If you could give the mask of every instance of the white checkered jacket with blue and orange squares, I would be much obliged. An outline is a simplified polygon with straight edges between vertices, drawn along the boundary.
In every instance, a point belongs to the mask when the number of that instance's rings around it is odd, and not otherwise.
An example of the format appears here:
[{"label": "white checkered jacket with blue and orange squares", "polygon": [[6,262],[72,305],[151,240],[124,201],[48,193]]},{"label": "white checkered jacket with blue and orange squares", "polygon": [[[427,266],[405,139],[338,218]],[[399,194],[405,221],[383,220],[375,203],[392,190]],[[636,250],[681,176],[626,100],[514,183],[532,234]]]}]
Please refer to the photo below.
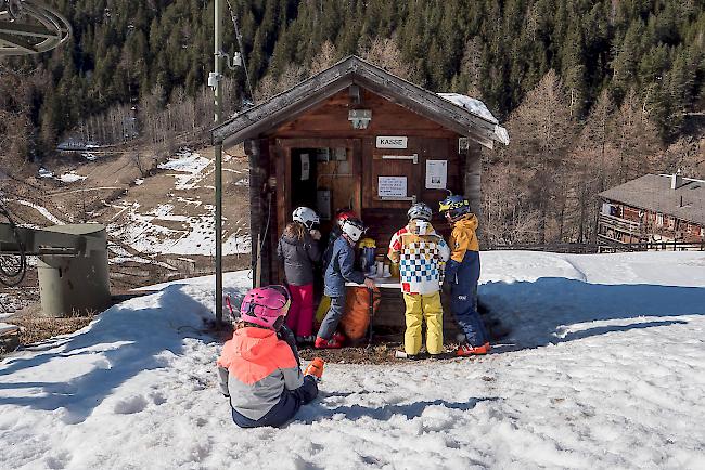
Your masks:
[{"label": "white checkered jacket with blue and orange squares", "polygon": [[450,248],[433,225],[412,220],[394,234],[387,257],[399,263],[405,293],[434,293],[440,289],[443,270]]}]

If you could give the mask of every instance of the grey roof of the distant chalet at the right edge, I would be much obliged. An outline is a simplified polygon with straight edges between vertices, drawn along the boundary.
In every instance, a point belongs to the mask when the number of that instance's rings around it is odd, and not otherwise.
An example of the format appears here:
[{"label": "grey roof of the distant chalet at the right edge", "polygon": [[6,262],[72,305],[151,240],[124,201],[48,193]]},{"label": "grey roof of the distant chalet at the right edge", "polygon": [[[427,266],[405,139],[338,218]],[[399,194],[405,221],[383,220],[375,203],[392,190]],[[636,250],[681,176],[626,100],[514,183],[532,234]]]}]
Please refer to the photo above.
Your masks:
[{"label": "grey roof of the distant chalet at the right edge", "polygon": [[600,197],[705,226],[705,181],[683,178],[677,190],[670,188],[670,182],[669,174],[645,174],[602,192]]}]

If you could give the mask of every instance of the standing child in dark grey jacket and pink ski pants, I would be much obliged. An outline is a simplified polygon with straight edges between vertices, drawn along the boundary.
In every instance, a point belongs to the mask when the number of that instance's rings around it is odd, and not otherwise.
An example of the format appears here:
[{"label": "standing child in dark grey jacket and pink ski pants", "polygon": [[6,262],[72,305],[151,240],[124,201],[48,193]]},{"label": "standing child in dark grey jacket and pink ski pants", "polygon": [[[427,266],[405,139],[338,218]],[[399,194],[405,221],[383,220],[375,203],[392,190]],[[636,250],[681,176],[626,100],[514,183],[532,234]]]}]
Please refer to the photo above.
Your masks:
[{"label": "standing child in dark grey jacket and pink ski pants", "polygon": [[315,227],[318,214],[308,207],[294,210],[293,222],[286,225],[277,246],[277,256],[284,263],[286,285],[292,296],[292,306],[286,315],[286,326],[299,342],[312,341],[313,335],[313,265],[321,260]]}]

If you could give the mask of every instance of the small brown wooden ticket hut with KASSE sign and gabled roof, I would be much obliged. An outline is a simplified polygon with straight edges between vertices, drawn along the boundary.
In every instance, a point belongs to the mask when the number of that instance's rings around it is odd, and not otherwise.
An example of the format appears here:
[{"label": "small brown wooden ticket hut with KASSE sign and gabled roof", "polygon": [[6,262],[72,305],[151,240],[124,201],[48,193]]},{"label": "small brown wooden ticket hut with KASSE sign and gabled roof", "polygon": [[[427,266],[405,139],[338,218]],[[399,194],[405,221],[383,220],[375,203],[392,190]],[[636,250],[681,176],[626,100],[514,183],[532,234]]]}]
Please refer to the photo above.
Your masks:
[{"label": "small brown wooden ticket hut with KASSE sign and gabled roof", "polygon": [[226,148],[244,143],[249,158],[255,285],[282,280],[277,240],[297,206],[315,208],[324,233],[336,209],[354,209],[385,252],[412,201],[437,209],[449,190],[478,211],[480,146],[509,143],[480,102],[436,94],[357,56],[243,110],[213,135]]}]

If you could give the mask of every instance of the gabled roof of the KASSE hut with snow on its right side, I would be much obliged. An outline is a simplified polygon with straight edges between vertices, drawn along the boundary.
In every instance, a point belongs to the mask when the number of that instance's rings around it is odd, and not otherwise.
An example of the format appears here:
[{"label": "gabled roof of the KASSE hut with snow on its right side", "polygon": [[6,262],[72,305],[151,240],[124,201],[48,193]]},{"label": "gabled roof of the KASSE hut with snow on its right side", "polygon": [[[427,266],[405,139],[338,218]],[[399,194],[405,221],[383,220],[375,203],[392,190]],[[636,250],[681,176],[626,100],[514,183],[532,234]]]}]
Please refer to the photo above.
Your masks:
[{"label": "gabled roof of the KASSE hut with snow on its right side", "polygon": [[[441,126],[492,148],[509,144],[507,130],[482,102],[438,95],[350,55],[270,100],[246,109],[213,130],[226,146],[254,138],[310,109],[350,84],[358,84]],[[457,95],[461,96],[461,95]],[[482,106],[479,106],[479,105]],[[484,112],[482,108],[484,108]]]}]

